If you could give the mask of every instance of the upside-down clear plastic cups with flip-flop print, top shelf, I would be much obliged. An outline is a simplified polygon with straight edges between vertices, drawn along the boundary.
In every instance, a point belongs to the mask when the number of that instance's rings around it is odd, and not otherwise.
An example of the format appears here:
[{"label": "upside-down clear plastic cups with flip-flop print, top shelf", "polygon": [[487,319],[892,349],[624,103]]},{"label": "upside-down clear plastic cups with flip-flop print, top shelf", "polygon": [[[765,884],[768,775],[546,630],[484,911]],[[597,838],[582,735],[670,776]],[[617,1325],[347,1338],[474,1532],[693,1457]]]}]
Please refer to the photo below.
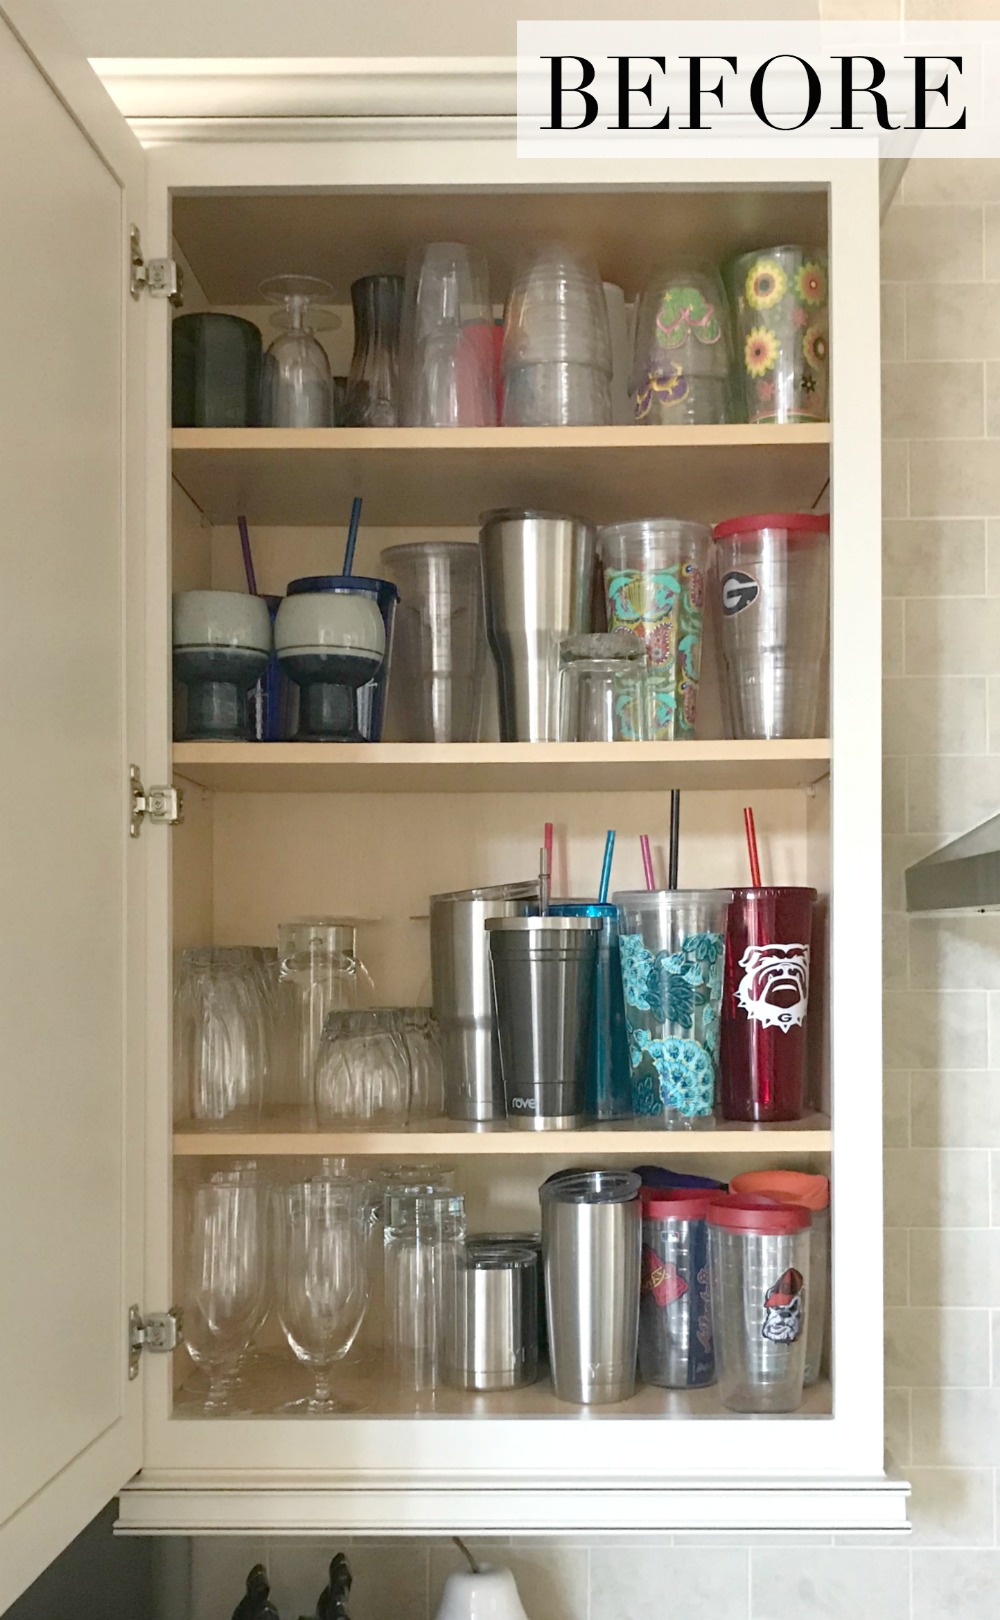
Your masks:
[{"label": "upside-down clear plastic cups with flip-flop print, top shelf", "polygon": [[708,266],[661,271],[635,321],[630,394],[643,426],[733,421],[729,306]]}]

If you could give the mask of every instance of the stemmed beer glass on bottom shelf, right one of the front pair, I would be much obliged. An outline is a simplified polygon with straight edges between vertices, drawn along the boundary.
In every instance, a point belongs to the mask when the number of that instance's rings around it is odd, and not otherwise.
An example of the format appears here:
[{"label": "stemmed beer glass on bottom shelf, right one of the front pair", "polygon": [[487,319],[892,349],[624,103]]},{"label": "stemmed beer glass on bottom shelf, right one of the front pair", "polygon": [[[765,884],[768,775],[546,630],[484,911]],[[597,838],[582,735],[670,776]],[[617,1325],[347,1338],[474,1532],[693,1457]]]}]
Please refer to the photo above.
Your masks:
[{"label": "stemmed beer glass on bottom shelf, right one of the front pair", "polygon": [[313,1395],[282,1411],[357,1411],[331,1392],[368,1304],[368,1184],[313,1178],[274,1189],[276,1304],[285,1338],[313,1374]]}]

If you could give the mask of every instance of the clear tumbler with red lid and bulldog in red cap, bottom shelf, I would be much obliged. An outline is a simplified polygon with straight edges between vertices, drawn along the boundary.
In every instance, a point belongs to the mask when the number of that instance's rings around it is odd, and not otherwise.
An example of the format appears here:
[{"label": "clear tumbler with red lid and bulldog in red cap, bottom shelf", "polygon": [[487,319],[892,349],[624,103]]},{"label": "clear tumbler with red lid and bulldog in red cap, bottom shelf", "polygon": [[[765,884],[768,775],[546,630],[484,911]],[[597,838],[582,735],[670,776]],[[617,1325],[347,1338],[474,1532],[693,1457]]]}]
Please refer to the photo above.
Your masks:
[{"label": "clear tumbler with red lid and bulldog in red cap, bottom shelf", "polygon": [[809,1228],[809,1210],[746,1192],[708,1205],[715,1366],[731,1411],[802,1403]]}]

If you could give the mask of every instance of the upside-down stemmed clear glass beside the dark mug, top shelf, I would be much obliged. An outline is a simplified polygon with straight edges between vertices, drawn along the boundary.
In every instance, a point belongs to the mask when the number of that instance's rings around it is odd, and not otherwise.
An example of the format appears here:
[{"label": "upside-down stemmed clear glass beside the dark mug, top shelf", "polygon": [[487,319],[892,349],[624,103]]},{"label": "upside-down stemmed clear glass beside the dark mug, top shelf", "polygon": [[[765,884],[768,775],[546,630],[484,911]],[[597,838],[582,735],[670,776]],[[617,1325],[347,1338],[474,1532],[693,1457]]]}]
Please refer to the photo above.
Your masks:
[{"label": "upside-down stemmed clear glass beside the dark mug, top shelf", "polygon": [[335,296],[334,288],[314,275],[272,275],[261,282],[261,293],[269,303],[284,305],[272,316],[284,330],[264,355],[261,371],[261,426],[332,428],[331,363],[313,334],[340,326],[332,309],[319,308]]}]

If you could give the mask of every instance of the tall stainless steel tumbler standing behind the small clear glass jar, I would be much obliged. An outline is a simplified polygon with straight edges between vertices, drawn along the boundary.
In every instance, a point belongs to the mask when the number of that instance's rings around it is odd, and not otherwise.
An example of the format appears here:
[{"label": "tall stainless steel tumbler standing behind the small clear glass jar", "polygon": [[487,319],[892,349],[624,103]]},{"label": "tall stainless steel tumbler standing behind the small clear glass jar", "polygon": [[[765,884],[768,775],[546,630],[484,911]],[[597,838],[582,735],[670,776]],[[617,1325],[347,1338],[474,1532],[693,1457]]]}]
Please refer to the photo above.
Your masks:
[{"label": "tall stainless steel tumbler standing behind the small clear glass jar", "polygon": [[590,630],[596,531],[559,512],[485,512],[480,523],[501,739],[558,742],[559,643]]}]

